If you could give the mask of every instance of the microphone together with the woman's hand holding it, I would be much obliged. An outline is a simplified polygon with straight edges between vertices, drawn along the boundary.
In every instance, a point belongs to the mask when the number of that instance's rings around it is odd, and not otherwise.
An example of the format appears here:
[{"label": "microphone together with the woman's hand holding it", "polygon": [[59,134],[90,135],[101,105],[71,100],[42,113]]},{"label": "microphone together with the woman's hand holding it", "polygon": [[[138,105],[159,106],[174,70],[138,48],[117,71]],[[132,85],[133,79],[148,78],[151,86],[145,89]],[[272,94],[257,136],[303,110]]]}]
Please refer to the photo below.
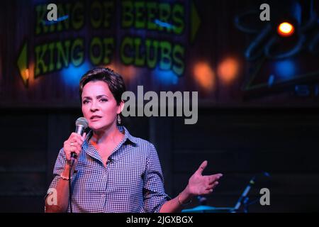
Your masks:
[{"label": "microphone together with the woman's hand holding it", "polygon": [[82,151],[82,144],[86,137],[84,130],[88,126],[86,118],[78,118],[75,122],[76,130],[75,133],[72,133],[69,138],[64,143],[65,157],[67,162],[70,162],[72,159],[77,160],[77,157]]}]

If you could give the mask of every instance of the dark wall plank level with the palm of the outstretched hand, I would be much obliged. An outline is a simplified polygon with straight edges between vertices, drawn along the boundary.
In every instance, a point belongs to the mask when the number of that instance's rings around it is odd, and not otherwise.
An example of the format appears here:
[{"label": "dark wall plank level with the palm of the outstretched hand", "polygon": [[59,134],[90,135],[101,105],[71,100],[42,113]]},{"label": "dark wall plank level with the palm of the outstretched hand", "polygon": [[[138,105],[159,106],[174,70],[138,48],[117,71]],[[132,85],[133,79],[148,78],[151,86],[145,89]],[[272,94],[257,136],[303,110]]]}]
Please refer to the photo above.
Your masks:
[{"label": "dark wall plank level with the palm of the outstretched hand", "polygon": [[[206,175],[206,174],[204,174]],[[213,194],[217,196],[240,196],[246,189],[250,179],[256,173],[228,173],[220,179],[220,184]],[[191,175],[177,174],[173,176],[174,193],[181,192],[188,183]],[[319,174],[280,174],[273,173],[270,177],[256,175],[255,183],[250,189],[249,195],[257,196],[260,189],[266,187],[271,196],[319,196]]]}]

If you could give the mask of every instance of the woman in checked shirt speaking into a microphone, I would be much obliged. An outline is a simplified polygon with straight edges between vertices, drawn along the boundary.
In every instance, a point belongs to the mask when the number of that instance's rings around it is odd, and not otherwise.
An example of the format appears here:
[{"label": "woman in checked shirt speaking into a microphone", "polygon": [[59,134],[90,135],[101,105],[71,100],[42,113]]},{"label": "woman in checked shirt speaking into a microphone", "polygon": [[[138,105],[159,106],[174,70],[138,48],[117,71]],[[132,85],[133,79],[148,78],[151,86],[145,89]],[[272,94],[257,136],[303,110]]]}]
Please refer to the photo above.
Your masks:
[{"label": "woman in checked shirt speaking into a microphone", "polygon": [[57,202],[48,202],[47,196],[46,212],[179,212],[194,196],[213,192],[222,175],[203,176],[204,161],[177,197],[165,194],[154,145],[121,126],[123,92],[123,78],[108,68],[97,67],[82,77],[79,94],[90,131],[65,140],[50,184]]}]

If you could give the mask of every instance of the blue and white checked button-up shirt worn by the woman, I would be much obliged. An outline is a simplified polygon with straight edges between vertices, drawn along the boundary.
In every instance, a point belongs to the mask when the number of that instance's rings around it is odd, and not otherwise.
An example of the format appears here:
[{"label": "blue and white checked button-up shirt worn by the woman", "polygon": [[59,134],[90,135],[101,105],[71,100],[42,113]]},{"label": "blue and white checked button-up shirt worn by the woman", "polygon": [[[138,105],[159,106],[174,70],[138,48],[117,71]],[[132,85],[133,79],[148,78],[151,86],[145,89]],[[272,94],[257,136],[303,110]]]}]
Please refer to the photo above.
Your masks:
[{"label": "blue and white checked button-up shirt worn by the woman", "polygon": [[[73,212],[158,212],[170,199],[164,192],[154,145],[130,135],[123,126],[118,129],[125,137],[113,150],[106,167],[94,145],[88,142],[91,132],[86,136],[72,177]],[[65,163],[62,148],[50,188],[56,186]]]}]

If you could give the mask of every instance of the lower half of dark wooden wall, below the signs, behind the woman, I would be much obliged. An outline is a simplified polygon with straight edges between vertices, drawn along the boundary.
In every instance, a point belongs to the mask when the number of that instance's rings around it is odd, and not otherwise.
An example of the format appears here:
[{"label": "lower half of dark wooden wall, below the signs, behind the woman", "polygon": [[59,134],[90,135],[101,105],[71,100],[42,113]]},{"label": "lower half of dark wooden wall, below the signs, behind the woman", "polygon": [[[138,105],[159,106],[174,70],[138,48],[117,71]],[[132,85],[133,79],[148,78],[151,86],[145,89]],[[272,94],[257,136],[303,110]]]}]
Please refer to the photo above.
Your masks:
[{"label": "lower half of dark wooden wall, below the signs, behind the woman", "polygon": [[[77,109],[1,110],[0,211],[43,212],[57,153],[79,114]],[[319,209],[319,109],[200,109],[194,126],[184,125],[183,118],[136,117],[125,124],[155,144],[170,196],[208,160],[204,174],[224,175],[208,196],[209,206],[234,206],[257,175],[250,199],[267,187],[271,205],[258,202],[249,211]],[[194,206],[196,199],[188,207]]]}]

